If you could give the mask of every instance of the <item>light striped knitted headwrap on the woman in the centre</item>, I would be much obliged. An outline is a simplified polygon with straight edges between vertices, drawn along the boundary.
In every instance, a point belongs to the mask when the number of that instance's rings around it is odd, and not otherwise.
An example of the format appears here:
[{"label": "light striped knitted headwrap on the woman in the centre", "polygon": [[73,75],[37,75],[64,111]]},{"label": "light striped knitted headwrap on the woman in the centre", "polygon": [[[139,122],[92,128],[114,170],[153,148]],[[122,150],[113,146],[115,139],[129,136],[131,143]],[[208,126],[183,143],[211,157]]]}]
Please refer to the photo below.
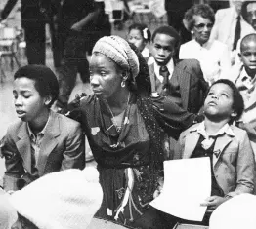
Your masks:
[{"label": "light striped knitted headwrap on the woman in the centre", "polygon": [[101,38],[94,46],[93,53],[101,53],[120,67],[131,72],[133,79],[139,73],[139,59],[128,42],[118,36]]}]

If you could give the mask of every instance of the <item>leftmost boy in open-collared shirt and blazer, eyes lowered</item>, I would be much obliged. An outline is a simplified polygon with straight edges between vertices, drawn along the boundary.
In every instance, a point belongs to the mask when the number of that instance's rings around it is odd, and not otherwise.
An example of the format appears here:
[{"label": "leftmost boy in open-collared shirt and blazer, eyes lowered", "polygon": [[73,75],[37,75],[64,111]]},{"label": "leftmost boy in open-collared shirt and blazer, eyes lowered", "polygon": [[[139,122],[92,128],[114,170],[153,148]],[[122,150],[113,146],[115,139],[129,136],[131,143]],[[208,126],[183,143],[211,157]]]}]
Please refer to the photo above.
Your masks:
[{"label": "leftmost boy in open-collared shirt and blazer, eyes lowered", "polygon": [[11,125],[1,140],[4,188],[21,189],[49,172],[83,169],[80,125],[50,109],[59,95],[53,71],[43,65],[27,65],[14,78],[14,104],[21,120]]}]

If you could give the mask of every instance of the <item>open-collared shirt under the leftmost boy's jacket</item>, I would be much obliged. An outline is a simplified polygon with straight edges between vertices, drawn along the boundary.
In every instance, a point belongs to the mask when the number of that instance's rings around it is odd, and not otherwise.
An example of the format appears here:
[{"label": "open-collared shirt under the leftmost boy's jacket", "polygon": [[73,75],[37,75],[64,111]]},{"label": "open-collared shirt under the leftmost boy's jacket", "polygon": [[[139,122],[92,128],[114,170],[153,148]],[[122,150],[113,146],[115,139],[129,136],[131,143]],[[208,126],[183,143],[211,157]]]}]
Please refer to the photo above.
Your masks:
[{"label": "open-collared shirt under the leftmost boy's jacket", "polygon": [[33,132],[31,131],[31,129],[29,127],[29,124],[27,123],[27,131],[28,131],[28,134],[29,134],[30,142],[31,142],[31,152],[34,155],[34,159],[35,159],[35,165],[32,165],[32,166],[37,167],[41,142],[42,142],[42,139],[45,135],[47,126],[49,124],[49,121],[53,118],[52,116],[53,116],[53,114],[52,114],[52,111],[50,110],[49,117],[48,117],[48,120],[46,122],[46,125],[44,126],[43,130],[41,132],[39,132],[38,134],[36,134],[36,135],[33,134]]}]

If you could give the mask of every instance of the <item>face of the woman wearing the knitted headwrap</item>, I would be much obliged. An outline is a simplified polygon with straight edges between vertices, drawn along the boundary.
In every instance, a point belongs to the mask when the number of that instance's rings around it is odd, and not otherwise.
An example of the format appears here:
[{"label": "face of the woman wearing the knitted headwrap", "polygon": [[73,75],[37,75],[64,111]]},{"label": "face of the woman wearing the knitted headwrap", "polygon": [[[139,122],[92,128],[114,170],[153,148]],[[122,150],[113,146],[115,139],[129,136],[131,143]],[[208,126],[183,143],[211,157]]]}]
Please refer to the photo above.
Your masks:
[{"label": "face of the woman wearing the knitted headwrap", "polygon": [[90,61],[90,83],[94,95],[103,98],[118,96],[121,91],[122,74],[120,67],[110,58],[96,53]]}]

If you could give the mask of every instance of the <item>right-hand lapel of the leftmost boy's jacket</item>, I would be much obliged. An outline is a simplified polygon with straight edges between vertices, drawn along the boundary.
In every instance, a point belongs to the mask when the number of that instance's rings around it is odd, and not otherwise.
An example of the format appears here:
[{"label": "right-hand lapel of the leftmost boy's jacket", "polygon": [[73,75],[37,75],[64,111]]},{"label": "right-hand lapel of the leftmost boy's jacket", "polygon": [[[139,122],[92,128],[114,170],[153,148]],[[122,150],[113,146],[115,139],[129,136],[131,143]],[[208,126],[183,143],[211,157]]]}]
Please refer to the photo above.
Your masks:
[{"label": "right-hand lapel of the leftmost boy's jacket", "polygon": [[44,173],[49,154],[53,151],[58,143],[56,137],[61,134],[60,118],[55,112],[51,113],[52,117],[47,124],[38,156],[37,167],[40,176]]}]

